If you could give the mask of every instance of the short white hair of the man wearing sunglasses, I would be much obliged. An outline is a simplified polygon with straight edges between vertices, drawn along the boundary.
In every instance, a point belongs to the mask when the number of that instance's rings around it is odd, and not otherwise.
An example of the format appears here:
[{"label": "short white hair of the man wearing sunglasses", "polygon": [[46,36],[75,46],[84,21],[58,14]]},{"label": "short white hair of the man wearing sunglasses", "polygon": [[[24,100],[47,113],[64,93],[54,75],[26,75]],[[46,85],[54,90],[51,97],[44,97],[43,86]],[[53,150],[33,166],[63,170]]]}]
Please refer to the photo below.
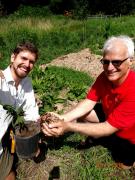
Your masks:
[{"label": "short white hair of the man wearing sunglasses", "polygon": [[130,58],[134,57],[134,41],[126,36],[126,35],[120,35],[120,36],[112,36],[110,37],[103,46],[103,53],[105,53],[106,51],[109,51],[113,46],[113,43],[116,41],[121,41],[123,42],[123,44],[126,45],[127,47],[127,51],[128,51],[128,56]]}]

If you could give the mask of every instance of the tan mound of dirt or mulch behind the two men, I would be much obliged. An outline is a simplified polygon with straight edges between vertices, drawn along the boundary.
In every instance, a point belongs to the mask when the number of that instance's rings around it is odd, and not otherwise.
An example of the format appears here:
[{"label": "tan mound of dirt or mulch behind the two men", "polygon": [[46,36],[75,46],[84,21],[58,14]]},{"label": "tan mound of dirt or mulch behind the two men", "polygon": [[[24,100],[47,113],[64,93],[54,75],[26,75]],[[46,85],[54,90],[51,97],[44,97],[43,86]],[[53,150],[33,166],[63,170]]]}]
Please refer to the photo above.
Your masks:
[{"label": "tan mound of dirt or mulch behind the two men", "polygon": [[91,77],[97,77],[102,71],[101,56],[92,54],[89,48],[77,53],[70,53],[54,59],[48,65],[72,68],[88,73]]}]

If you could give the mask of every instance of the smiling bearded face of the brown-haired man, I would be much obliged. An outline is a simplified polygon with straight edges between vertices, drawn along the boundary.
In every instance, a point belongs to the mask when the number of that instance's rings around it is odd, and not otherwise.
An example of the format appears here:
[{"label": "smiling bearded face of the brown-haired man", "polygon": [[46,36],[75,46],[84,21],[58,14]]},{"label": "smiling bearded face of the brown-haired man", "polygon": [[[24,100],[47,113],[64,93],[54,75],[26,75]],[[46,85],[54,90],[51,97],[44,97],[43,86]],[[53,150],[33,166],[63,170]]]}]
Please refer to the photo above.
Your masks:
[{"label": "smiling bearded face of the brown-haired man", "polygon": [[33,69],[36,55],[28,50],[11,55],[11,72],[14,80],[20,81]]}]

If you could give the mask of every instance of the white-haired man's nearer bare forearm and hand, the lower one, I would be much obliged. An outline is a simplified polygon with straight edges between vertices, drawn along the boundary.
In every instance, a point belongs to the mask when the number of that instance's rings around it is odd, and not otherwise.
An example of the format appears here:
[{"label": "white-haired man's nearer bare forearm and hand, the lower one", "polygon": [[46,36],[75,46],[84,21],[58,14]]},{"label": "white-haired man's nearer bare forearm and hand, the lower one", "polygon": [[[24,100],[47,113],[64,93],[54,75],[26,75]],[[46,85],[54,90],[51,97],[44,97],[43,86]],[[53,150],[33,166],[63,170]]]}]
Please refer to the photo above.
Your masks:
[{"label": "white-haired man's nearer bare forearm and hand, the lower one", "polygon": [[[65,132],[78,132],[95,138],[109,136],[118,131],[117,128],[111,126],[108,122],[103,123],[74,123],[74,122],[58,122],[49,125],[51,135],[59,136]],[[44,130],[43,130],[44,132]]]}]

